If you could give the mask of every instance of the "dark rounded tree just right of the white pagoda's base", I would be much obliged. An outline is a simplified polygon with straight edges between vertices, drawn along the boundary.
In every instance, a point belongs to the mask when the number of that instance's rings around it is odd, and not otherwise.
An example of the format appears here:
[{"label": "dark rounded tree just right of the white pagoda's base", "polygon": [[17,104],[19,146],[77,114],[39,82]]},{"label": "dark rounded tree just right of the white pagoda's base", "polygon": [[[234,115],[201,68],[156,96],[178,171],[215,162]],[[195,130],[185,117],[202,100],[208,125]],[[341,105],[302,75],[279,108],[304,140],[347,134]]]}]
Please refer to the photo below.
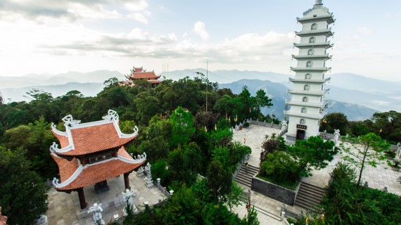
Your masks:
[{"label": "dark rounded tree just right of the white pagoda's base", "polygon": [[343,135],[347,134],[348,119],[344,113],[329,113],[325,117],[325,122],[320,125],[320,131],[333,134],[334,129],[340,129]]}]

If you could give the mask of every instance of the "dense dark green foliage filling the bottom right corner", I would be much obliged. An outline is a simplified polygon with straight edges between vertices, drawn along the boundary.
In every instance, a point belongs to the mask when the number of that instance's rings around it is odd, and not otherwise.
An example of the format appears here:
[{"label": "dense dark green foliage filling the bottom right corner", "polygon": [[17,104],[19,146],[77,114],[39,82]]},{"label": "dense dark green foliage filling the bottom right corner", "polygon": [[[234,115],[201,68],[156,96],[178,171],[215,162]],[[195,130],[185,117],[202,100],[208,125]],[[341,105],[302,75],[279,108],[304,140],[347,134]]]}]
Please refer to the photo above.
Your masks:
[{"label": "dense dark green foliage filling the bottom right corner", "polygon": [[400,224],[401,199],[378,189],[357,188],[355,169],[339,163],[322,207],[329,224]]}]

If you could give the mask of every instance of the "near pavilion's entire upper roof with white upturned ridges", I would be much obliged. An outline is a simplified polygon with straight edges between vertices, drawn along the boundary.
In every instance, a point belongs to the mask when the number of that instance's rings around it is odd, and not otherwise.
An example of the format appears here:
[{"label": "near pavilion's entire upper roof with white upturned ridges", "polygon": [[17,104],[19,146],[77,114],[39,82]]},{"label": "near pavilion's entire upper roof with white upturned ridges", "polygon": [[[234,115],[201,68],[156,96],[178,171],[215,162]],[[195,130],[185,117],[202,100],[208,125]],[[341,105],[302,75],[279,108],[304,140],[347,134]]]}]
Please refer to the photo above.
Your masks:
[{"label": "near pavilion's entire upper roof with white upturned ridges", "polygon": [[71,115],[64,117],[63,121],[65,131],[58,131],[54,124],[51,125],[61,148],[53,143],[50,150],[59,156],[87,155],[110,148],[120,148],[138,135],[138,127],[135,127],[132,134],[123,134],[118,126],[118,115],[113,110],[108,110],[108,115],[96,122],[79,124]]}]

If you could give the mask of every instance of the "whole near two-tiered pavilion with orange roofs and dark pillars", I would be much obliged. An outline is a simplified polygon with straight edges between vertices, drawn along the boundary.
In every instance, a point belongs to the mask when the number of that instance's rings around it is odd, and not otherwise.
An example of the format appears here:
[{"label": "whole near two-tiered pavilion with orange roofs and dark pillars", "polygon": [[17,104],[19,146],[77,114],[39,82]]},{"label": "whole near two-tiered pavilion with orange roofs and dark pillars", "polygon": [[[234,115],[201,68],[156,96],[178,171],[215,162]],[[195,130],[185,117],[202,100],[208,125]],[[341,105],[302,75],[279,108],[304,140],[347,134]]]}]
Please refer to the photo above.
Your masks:
[{"label": "whole near two-tiered pavilion with orange roofs and dark pillars", "polygon": [[125,188],[130,189],[128,175],[146,161],[146,153],[132,158],[124,148],[126,143],[138,136],[134,133],[123,134],[119,117],[113,110],[103,120],[80,123],[71,115],[63,118],[65,131],[59,131],[52,123],[51,129],[60,142],[50,147],[51,157],[56,161],[60,180],[54,178],[53,186],[57,191],[70,193],[77,191],[81,208],[85,203],[84,187],[95,185],[96,191],[108,190],[107,179],[124,174]]}]

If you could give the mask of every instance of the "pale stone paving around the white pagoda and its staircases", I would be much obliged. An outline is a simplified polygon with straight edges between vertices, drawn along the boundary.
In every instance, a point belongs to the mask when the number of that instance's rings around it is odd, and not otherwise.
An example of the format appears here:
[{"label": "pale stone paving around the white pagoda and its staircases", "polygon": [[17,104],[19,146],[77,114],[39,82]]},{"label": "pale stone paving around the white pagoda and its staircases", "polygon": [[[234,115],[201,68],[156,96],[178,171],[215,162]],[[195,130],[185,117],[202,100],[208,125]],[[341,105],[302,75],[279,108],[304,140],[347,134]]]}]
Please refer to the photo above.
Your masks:
[{"label": "pale stone paving around the white pagoda and its staircases", "polygon": [[[279,134],[279,131],[279,129],[274,129],[271,127],[250,124],[250,127],[248,128],[234,131],[234,140],[241,141],[243,143],[244,138],[246,138],[246,146],[250,146],[250,148],[252,148],[252,153],[248,158],[248,164],[259,167],[260,152],[262,150],[261,146],[263,141],[265,141],[265,136],[271,136],[273,133]],[[339,160],[341,160],[340,154],[336,155],[335,159],[330,162],[329,166],[327,166],[325,169],[313,171],[313,175],[304,178],[303,181],[320,187],[326,186],[329,184],[329,173],[333,171],[333,168],[336,167],[336,163]],[[401,172],[393,171],[392,169],[388,168],[386,162],[383,161],[383,163],[378,165],[376,168],[367,166],[364,169],[362,179],[363,181],[368,181],[369,187],[371,188],[383,189],[384,186],[387,186],[389,192],[401,195],[401,184],[397,183],[395,180],[398,176],[401,176]],[[248,189],[246,186],[242,187]],[[260,224],[281,224],[281,222],[277,221],[277,219],[273,219],[272,217],[267,216],[267,214],[264,214],[263,211],[270,212],[271,214],[279,217],[281,205],[283,205],[283,203],[260,193],[251,191],[251,204],[255,205],[255,207],[259,209],[262,209],[262,212],[258,212],[257,215]],[[286,208],[295,213],[298,213],[301,210],[301,208],[298,206],[291,207],[286,205]],[[243,217],[246,214],[245,203],[236,207],[236,213],[238,213],[240,217]]]}]

